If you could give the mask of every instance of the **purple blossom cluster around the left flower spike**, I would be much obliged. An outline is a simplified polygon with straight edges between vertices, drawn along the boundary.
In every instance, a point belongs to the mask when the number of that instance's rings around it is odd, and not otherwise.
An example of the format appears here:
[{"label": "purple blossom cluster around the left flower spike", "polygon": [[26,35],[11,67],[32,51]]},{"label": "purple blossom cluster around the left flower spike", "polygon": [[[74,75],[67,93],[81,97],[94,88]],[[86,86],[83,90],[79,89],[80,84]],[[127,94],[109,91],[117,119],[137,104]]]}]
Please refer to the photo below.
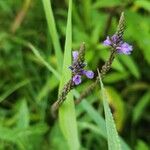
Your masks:
[{"label": "purple blossom cluster around the left flower spike", "polygon": [[85,75],[87,78],[92,79],[94,77],[94,73],[91,70],[84,70],[84,67],[86,66],[85,62],[79,61],[79,52],[73,51],[73,64],[69,68],[72,71],[73,77],[72,80],[75,85],[78,85],[81,83],[81,76]]}]

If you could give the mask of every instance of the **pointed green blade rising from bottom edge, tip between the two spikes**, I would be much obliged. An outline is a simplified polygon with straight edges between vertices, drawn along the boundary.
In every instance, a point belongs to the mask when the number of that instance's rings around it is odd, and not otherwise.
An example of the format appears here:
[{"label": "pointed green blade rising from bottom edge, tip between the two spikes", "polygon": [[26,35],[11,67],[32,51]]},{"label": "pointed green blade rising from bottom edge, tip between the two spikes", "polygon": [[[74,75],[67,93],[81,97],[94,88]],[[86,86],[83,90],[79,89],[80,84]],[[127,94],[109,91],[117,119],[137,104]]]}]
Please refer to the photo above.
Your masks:
[{"label": "pointed green blade rising from bottom edge, tip between the two spikes", "polygon": [[108,105],[108,97],[105,93],[105,88],[103,86],[100,73],[98,72],[100,79],[100,86],[102,90],[103,106],[105,112],[106,130],[107,130],[107,141],[109,150],[121,150],[119,136],[116,130],[116,126],[113,120],[112,113]]}]

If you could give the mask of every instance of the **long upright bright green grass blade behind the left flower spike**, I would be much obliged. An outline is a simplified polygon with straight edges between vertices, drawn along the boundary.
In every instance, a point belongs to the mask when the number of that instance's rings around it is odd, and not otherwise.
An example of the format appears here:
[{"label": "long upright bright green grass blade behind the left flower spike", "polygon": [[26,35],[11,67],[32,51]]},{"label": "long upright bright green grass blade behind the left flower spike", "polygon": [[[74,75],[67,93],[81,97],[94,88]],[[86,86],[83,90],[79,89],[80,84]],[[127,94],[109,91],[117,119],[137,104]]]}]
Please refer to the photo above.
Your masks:
[{"label": "long upright bright green grass blade behind the left flower spike", "polygon": [[[63,75],[60,83],[60,90],[64,84],[71,78],[71,72],[68,66],[71,65],[71,47],[72,47],[72,0],[69,0],[69,10],[66,28],[66,42],[63,62]],[[60,91],[59,90],[59,91]],[[67,140],[69,150],[78,150],[79,139],[77,133],[77,122],[73,94],[70,92],[59,109],[59,124],[64,137]]]}]

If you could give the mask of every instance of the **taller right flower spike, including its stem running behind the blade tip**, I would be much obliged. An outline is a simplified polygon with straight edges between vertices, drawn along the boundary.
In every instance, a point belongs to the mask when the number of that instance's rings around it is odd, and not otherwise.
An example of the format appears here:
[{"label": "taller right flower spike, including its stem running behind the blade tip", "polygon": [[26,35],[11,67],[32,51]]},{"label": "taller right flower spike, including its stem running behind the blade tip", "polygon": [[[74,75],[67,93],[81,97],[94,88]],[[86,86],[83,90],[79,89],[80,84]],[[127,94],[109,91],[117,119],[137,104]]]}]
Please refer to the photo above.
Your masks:
[{"label": "taller right flower spike, including its stem running behind the blade tip", "polygon": [[[111,37],[107,36],[106,40],[104,40],[103,42],[103,45],[111,47],[111,51],[108,60],[101,68],[100,73],[102,77],[104,77],[104,75],[110,70],[116,54],[129,55],[133,50],[131,45],[123,41],[124,29],[125,29],[125,17],[124,17],[124,12],[122,12],[119,19],[116,33]],[[95,82],[92,83],[89,87],[86,88],[85,91],[81,93],[80,97],[76,100],[76,104],[80,103],[83,98],[85,98],[91,93],[91,91],[96,87],[98,81],[99,78],[97,76]]]}]

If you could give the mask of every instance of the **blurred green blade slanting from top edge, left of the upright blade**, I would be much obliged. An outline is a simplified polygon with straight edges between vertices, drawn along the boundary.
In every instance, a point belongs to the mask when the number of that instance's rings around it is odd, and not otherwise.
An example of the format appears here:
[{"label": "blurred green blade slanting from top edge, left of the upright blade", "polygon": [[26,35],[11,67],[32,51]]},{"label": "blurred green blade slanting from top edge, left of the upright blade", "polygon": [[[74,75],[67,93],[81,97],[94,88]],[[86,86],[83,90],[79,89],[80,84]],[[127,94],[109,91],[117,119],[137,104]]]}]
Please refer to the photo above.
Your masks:
[{"label": "blurred green blade slanting from top edge, left of the upright blade", "polygon": [[62,55],[62,51],[60,47],[58,33],[56,30],[56,24],[55,24],[54,15],[53,15],[52,7],[51,7],[51,0],[42,0],[42,2],[44,6],[48,29],[49,29],[52,42],[54,45],[54,50],[55,50],[57,63],[58,63],[58,69],[59,71],[61,71],[63,55]]}]

